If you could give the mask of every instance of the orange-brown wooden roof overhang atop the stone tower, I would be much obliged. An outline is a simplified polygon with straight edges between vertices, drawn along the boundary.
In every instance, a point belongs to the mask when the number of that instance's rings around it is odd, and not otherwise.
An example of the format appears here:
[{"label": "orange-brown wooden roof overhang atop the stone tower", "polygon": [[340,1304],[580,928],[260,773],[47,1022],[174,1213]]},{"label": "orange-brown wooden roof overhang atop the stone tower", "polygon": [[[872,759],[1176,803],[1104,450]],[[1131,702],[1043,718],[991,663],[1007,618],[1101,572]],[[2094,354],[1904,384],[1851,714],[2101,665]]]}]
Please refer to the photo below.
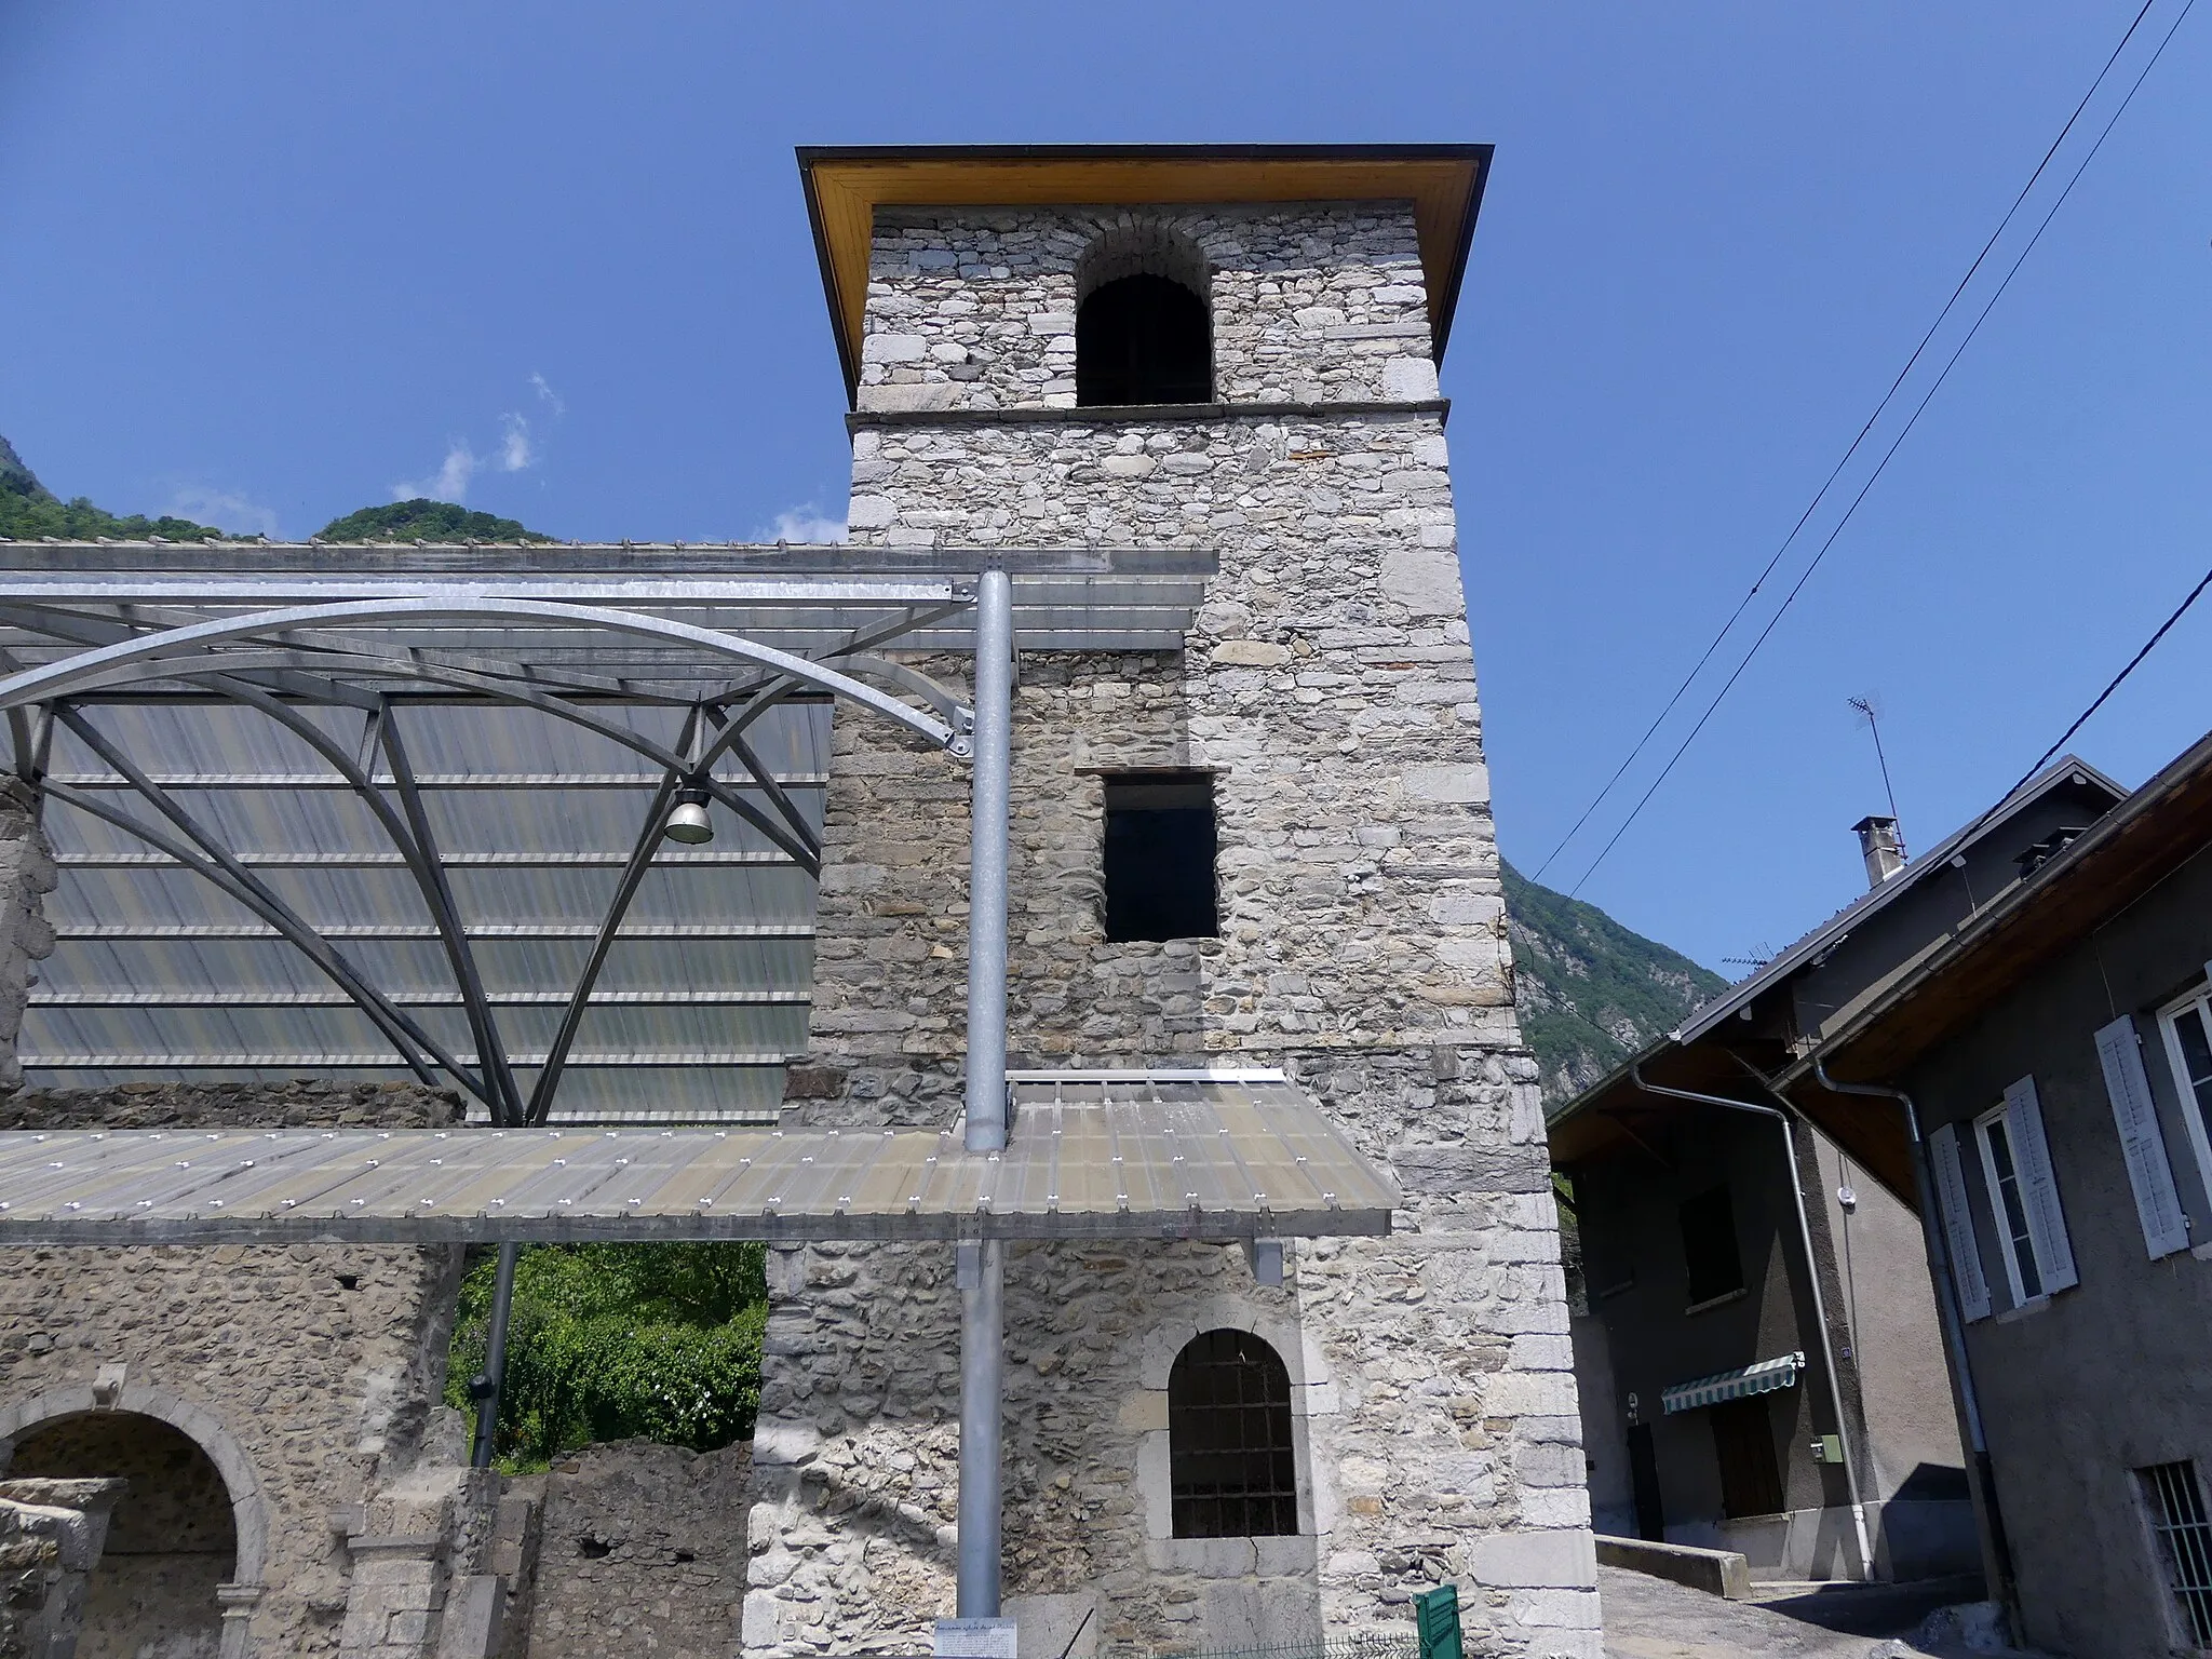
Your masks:
[{"label": "orange-brown wooden roof overhang atop the stone tower", "polygon": [[799,177],[852,398],[860,385],[876,208],[1411,201],[1429,330],[1442,361],[1491,150],[1489,144],[801,146]]}]

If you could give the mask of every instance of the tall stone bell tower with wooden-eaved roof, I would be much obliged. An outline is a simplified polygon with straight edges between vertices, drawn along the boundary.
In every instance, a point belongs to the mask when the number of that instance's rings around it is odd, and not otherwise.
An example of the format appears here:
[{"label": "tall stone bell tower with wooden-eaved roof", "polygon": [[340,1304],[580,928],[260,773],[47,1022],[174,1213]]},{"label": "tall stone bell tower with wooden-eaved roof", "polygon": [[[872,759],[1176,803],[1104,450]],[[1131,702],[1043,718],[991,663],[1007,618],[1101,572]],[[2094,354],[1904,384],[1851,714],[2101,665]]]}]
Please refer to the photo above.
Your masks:
[{"label": "tall stone bell tower with wooden-eaved roof", "polygon": [[[856,544],[1219,557],[1181,650],[1020,655],[1011,1064],[1276,1068],[1405,1190],[1389,1239],[1292,1241],[1274,1274],[1203,1243],[1009,1250],[1024,1655],[1409,1632],[1407,1597],[1447,1579],[1469,1652],[1599,1652],[1436,376],[1486,168],[801,153]],[[1135,865],[1124,830],[1155,836]],[[949,1121],[967,785],[841,721],[825,841],[787,1110]],[[1161,874],[1192,858],[1197,887]],[[1155,900],[1183,920],[1117,920]],[[951,1256],[774,1254],[748,1655],[911,1650],[951,1613]],[[1279,1509],[1199,1513],[1177,1378],[1206,1340],[1287,1374]]]}]

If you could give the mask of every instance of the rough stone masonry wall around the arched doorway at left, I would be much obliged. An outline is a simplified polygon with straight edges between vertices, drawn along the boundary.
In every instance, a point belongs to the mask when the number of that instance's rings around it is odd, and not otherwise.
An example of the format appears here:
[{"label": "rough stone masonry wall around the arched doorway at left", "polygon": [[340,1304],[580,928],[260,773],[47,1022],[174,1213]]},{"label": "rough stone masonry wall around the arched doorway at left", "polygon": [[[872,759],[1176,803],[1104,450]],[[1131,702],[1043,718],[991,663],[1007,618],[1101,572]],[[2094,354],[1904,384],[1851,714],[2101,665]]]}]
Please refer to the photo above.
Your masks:
[{"label": "rough stone masonry wall around the arched doorway at left", "polygon": [[[451,1095],[409,1084],[133,1084],[0,1099],[0,1128],[422,1128],[458,1117]],[[82,1409],[166,1413],[217,1464],[210,1440],[228,1440],[252,1478],[241,1491],[226,1471],[228,1498],[246,1498],[252,1517],[239,1555],[265,1557],[257,1650],[336,1655],[354,1568],[347,1531],[367,1526],[369,1500],[425,1453],[458,1272],[460,1252],[445,1248],[0,1250],[0,1411],[18,1436]]]}]

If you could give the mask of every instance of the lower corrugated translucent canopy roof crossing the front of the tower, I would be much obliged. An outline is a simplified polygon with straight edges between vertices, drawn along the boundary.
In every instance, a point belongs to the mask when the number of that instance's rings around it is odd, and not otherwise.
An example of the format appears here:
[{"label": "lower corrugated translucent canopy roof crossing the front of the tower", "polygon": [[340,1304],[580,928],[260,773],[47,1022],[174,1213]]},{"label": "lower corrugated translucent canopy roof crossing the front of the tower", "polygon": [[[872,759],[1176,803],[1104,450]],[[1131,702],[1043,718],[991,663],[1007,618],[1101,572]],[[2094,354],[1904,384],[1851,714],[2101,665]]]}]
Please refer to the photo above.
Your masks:
[{"label": "lower corrugated translucent canopy roof crossing the front of the tower", "polygon": [[1389,1177],[1281,1079],[1029,1077],[1013,1097],[995,1155],[958,1126],[9,1133],[0,1243],[1389,1232]]}]

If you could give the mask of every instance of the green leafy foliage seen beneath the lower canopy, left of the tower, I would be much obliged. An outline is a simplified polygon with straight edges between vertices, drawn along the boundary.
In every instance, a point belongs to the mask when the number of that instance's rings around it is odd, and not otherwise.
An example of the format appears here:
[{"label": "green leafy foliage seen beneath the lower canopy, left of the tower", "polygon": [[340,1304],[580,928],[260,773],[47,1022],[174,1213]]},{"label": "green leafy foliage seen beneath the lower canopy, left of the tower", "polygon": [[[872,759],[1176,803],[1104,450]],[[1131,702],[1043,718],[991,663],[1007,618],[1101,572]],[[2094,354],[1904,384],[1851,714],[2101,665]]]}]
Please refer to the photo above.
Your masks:
[{"label": "green leafy foliage seen beneath the lower canopy, left of the tower", "polygon": [[[498,1261],[462,1281],[447,1405],[471,1409]],[[641,1436],[714,1451],[761,1405],[765,1250],[757,1243],[588,1243],[524,1250],[507,1325],[498,1458],[542,1467],[595,1440]]]}]

